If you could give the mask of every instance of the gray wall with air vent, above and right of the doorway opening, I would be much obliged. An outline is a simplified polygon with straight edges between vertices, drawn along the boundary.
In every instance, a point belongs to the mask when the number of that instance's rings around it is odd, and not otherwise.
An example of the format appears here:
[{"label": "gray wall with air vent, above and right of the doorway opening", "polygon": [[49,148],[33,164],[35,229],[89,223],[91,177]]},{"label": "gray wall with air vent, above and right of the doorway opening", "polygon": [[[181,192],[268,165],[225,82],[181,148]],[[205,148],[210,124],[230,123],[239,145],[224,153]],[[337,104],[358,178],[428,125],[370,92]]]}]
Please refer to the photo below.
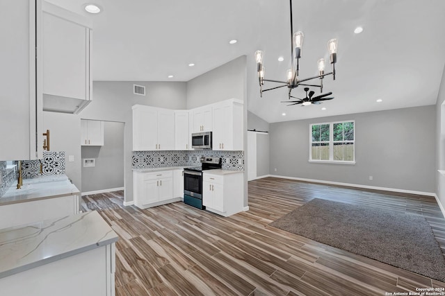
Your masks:
[{"label": "gray wall with air vent, above and right of the doorway opening", "polygon": [[[144,85],[146,87],[145,91],[147,96],[133,94],[133,83]],[[131,171],[133,124],[131,106],[141,104],[169,109],[185,109],[186,82],[94,81],[92,98],[92,103],[90,103],[90,105],[88,105],[88,107],[86,107],[80,114],[82,119],[117,121],[125,124],[125,201],[131,202],[133,200],[133,174]],[[80,166],[81,163],[79,162],[79,168]]]}]

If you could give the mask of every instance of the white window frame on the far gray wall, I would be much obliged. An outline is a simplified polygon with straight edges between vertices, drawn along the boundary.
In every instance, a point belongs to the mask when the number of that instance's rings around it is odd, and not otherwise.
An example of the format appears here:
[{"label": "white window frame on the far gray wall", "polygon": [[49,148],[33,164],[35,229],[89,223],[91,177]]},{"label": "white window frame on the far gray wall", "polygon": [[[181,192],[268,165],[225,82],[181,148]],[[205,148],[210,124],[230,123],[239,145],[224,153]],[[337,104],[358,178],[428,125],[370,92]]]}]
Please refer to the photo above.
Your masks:
[{"label": "white window frame on the far gray wall", "polygon": [[[334,124],[335,123],[354,123],[354,140],[353,141],[334,141]],[[329,125],[329,160],[323,159],[312,159],[312,126],[313,125]],[[354,153],[352,161],[348,160],[334,160],[334,143],[354,143]],[[309,162],[323,163],[323,164],[355,164],[355,121],[354,120],[343,120],[343,121],[332,121],[332,122],[322,122],[322,123],[310,123],[309,124]]]}]

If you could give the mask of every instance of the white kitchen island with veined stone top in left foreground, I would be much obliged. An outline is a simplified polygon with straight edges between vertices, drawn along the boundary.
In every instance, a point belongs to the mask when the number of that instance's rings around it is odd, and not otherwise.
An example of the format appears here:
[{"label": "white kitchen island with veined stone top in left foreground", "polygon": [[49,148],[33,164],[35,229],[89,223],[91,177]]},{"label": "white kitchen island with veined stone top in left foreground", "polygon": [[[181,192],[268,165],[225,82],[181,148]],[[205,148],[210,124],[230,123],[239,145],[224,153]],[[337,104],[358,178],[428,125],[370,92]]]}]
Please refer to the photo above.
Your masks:
[{"label": "white kitchen island with veined stone top in left foreground", "polygon": [[1,295],[114,295],[118,236],[97,211],[0,229]]}]

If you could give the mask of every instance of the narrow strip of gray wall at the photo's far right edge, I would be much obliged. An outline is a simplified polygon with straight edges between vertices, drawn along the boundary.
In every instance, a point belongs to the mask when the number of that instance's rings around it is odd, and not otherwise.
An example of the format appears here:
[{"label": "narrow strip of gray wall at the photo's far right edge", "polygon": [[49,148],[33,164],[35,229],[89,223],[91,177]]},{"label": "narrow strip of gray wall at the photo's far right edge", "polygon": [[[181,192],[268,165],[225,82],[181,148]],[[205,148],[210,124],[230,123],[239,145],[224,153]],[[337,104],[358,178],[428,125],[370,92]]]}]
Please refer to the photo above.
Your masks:
[{"label": "narrow strip of gray wall at the photo's far right edge", "polygon": [[[436,104],[436,169],[445,170],[445,68]],[[442,207],[445,207],[445,176],[436,174],[436,192]]]}]

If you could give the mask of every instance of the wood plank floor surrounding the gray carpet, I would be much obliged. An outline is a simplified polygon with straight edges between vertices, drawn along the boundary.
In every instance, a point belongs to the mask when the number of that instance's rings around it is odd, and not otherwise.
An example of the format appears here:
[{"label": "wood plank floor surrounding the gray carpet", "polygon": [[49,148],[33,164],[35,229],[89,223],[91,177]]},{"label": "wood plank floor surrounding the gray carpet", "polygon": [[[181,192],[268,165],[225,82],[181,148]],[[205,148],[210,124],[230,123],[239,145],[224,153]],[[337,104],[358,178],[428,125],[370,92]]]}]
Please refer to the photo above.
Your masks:
[{"label": "wood plank floor surrounding the gray carpet", "polygon": [[224,218],[183,202],[124,207],[123,191],[86,195],[120,236],[117,296],[388,295],[445,283],[268,226],[313,198],[426,217],[445,253],[435,198],[268,177],[249,182],[249,211]]}]

